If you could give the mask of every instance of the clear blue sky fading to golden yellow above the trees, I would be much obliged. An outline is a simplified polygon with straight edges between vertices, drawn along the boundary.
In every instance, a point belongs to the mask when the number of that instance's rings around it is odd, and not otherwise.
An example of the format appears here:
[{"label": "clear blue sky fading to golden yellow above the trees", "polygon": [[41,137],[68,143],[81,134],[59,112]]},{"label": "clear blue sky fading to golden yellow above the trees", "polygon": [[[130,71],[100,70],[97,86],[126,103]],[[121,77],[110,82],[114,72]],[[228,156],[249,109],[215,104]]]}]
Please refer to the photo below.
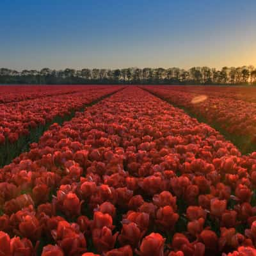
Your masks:
[{"label": "clear blue sky fading to golden yellow above the trees", "polygon": [[256,0],[1,0],[0,67],[256,66]]}]

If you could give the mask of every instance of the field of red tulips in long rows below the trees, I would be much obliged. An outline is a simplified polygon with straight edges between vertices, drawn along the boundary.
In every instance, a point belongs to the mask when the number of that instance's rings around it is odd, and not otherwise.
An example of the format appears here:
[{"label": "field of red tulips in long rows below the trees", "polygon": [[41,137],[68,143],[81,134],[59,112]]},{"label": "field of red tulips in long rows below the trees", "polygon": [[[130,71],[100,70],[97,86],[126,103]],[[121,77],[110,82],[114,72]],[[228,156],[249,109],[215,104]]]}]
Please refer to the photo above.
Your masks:
[{"label": "field of red tulips in long rows below the trees", "polygon": [[256,89],[0,92],[0,256],[256,255]]}]

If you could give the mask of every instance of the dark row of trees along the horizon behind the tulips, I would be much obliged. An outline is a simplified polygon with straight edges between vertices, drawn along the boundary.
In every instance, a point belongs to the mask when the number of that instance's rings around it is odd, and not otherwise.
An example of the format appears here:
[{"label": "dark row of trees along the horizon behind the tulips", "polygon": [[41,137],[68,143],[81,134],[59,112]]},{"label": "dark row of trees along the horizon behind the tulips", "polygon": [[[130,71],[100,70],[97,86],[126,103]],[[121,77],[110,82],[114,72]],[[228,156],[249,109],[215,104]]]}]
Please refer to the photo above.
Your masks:
[{"label": "dark row of trees along the horizon behind the tulips", "polygon": [[0,68],[0,84],[256,84],[253,66],[182,68],[83,68],[11,70]]}]

